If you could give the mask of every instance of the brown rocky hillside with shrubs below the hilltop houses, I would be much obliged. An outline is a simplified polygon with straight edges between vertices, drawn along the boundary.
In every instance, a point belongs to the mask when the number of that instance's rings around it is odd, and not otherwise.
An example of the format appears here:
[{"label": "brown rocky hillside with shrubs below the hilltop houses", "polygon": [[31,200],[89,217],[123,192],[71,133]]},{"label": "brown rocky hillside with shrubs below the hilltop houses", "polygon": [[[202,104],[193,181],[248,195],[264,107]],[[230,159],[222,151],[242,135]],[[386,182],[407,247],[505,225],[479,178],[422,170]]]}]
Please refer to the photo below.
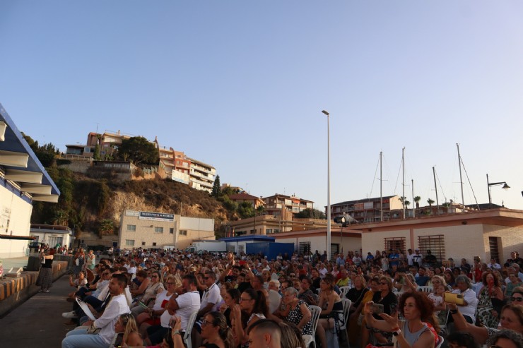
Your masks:
[{"label": "brown rocky hillside with shrubs below the hilltop houses", "polygon": [[187,217],[237,220],[235,212],[204,191],[172,180],[112,181],[92,179],[61,167],[47,172],[61,191],[59,203],[35,202],[31,223],[68,225],[75,232],[117,233],[124,210],[168,212]]}]

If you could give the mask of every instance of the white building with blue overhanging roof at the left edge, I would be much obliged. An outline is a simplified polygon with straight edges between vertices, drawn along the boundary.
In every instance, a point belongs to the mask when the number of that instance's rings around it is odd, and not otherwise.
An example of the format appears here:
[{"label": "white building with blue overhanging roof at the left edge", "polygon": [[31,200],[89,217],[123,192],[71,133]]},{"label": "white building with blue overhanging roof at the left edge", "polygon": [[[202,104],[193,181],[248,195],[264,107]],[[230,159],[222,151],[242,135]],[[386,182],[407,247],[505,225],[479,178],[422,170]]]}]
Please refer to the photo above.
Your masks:
[{"label": "white building with blue overhanging roof at the left edge", "polygon": [[33,202],[57,203],[60,191],[0,104],[0,258],[25,256]]}]

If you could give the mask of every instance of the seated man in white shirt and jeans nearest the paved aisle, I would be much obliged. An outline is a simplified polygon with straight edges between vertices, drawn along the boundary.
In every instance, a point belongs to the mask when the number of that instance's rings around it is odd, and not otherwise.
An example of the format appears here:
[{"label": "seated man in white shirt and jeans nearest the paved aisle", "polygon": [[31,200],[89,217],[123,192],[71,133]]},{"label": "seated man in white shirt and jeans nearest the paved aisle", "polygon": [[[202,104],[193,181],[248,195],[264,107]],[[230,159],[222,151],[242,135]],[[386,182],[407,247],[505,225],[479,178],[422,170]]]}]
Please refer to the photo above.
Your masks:
[{"label": "seated man in white shirt and jeans nearest the paved aisle", "polygon": [[[124,294],[126,287],[127,277],[125,275],[113,275],[109,283],[109,292],[112,298],[102,316],[96,320],[88,320],[83,326],[67,332],[66,337],[61,341],[61,347],[107,347],[114,337],[114,324],[122,314],[130,312]],[[90,325],[101,329],[100,332],[95,335],[89,335],[87,330]]]}]

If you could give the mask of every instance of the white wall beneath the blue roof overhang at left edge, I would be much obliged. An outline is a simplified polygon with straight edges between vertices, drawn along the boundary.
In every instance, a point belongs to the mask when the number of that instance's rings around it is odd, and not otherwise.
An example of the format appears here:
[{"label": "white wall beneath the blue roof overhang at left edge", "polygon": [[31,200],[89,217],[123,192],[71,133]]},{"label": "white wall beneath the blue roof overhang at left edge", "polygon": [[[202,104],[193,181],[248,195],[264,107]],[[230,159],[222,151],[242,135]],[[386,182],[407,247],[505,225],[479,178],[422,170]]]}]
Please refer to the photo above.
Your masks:
[{"label": "white wall beneath the blue roof overhang at left edge", "polygon": [[[20,198],[18,192],[0,186],[0,234],[29,236],[32,211],[33,205]],[[28,241],[0,239],[0,258],[25,256],[27,246]]]}]

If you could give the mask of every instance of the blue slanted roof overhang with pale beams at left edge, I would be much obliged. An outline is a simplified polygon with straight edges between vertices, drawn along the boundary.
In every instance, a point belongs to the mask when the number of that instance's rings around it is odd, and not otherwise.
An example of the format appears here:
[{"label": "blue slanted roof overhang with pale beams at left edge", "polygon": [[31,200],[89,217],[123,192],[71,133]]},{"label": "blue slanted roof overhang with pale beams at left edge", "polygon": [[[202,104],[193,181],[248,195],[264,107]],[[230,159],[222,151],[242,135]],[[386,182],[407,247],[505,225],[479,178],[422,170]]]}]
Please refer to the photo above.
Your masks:
[{"label": "blue slanted roof overhang with pale beams at left edge", "polygon": [[20,191],[33,200],[56,202],[60,191],[40,160],[23,138],[16,124],[0,104],[0,166],[5,178],[15,181]]}]

